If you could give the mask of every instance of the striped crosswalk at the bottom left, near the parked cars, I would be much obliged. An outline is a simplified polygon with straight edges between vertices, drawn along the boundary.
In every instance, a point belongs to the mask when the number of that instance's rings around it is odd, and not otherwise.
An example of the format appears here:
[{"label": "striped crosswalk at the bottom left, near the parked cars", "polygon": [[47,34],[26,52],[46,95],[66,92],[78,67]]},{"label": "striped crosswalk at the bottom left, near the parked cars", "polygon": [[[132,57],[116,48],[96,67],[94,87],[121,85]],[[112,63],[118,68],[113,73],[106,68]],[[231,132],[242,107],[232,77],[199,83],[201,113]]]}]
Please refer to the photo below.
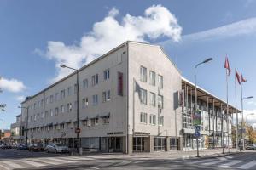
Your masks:
[{"label": "striped crosswalk at the bottom left, near the parked cars", "polygon": [[26,169],[32,167],[44,167],[53,165],[62,165],[66,163],[76,163],[92,161],[93,158],[87,156],[61,156],[61,157],[40,157],[25,158],[20,160],[1,160],[0,170]]}]

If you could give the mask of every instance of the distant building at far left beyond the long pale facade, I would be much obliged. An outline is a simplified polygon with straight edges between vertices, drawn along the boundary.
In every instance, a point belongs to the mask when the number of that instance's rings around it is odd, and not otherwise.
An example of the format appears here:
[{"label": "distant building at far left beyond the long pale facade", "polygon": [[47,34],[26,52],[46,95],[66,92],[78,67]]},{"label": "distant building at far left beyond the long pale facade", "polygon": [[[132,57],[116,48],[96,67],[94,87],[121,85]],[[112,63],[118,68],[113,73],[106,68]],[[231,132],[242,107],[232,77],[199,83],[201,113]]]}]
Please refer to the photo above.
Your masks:
[{"label": "distant building at far left beyond the long pale facade", "polygon": [[21,114],[16,116],[16,122],[11,124],[11,138],[14,143],[24,142],[25,122],[21,121]]}]

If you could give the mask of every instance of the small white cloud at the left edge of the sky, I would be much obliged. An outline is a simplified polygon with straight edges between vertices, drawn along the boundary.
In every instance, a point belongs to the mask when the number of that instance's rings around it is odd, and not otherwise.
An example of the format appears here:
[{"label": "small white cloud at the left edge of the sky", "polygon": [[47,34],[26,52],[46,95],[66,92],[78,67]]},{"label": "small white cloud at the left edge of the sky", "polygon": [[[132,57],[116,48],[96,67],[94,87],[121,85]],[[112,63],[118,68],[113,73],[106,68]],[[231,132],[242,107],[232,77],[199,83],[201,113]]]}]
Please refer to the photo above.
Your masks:
[{"label": "small white cloud at the left edge of the sky", "polygon": [[20,80],[16,80],[14,78],[7,79],[2,77],[0,79],[0,88],[4,91],[7,90],[9,92],[18,93],[26,89],[26,86]]}]

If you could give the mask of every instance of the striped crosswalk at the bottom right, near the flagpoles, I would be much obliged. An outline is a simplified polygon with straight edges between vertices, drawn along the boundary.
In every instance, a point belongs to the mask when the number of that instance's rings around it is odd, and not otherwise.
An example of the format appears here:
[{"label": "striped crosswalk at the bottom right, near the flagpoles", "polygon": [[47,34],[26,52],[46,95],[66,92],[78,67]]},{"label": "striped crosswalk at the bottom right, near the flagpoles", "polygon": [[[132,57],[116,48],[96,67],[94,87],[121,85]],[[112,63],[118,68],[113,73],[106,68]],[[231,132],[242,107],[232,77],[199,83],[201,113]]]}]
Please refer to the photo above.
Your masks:
[{"label": "striped crosswalk at the bottom right, near the flagpoles", "polygon": [[[179,161],[182,162],[182,161]],[[209,158],[203,160],[183,161],[185,164],[201,167],[230,167],[232,169],[256,169],[256,161],[232,160],[228,157]]]}]

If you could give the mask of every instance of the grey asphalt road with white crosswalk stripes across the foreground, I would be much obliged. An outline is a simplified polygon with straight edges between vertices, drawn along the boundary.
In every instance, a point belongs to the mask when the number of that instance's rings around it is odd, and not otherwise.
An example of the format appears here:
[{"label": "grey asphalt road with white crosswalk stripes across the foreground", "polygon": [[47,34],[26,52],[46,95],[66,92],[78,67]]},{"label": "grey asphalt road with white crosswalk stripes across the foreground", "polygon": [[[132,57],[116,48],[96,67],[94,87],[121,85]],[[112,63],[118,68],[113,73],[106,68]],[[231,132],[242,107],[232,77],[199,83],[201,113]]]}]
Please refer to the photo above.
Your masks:
[{"label": "grey asphalt road with white crosswalk stripes across the foreground", "polygon": [[256,169],[256,151],[213,158],[173,159],[170,157],[86,155],[68,156],[44,152],[0,150],[0,169]]}]

